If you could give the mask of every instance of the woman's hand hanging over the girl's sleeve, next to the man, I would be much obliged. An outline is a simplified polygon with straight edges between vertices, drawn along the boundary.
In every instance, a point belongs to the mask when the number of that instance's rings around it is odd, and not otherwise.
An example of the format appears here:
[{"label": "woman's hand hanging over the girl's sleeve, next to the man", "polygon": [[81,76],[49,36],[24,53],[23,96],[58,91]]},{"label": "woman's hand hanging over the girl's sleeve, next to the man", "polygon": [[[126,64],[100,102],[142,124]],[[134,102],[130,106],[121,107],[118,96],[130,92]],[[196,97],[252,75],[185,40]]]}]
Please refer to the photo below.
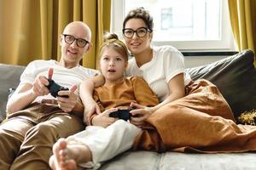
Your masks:
[{"label": "woman's hand hanging over the girl's sleeve, next to the man", "polygon": [[84,105],[84,123],[87,125],[90,124],[90,117],[94,114],[101,114],[101,110],[99,105],[97,105],[96,101],[94,99],[88,99],[86,101],[86,105]]}]

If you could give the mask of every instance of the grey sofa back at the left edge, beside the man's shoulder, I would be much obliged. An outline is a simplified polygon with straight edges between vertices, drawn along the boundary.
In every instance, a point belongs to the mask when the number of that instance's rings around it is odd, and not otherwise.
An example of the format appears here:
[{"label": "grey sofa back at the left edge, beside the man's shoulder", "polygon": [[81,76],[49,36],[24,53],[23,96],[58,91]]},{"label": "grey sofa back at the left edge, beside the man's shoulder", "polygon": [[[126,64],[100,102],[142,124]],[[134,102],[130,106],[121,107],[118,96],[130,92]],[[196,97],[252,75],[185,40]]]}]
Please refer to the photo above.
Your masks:
[{"label": "grey sofa back at the left edge, beside the man's shoulder", "polygon": [[0,122],[3,121],[9,88],[16,88],[25,66],[0,64]]}]

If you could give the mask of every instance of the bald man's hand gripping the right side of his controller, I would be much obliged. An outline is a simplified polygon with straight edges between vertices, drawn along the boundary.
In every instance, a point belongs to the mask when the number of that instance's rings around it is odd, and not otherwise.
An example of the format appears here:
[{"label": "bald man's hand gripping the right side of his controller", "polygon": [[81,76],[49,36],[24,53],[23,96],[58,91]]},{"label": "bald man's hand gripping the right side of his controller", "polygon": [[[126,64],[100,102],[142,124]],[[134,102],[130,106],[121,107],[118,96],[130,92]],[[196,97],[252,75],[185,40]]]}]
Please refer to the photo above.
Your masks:
[{"label": "bald man's hand gripping the right side of his controller", "polygon": [[[70,112],[73,111],[73,108],[78,104],[79,102],[79,96],[75,94],[78,87],[76,85],[72,86],[69,91],[62,90],[58,92],[57,103],[58,106],[61,108],[62,111]],[[61,97],[61,95],[67,95],[68,98]]]}]

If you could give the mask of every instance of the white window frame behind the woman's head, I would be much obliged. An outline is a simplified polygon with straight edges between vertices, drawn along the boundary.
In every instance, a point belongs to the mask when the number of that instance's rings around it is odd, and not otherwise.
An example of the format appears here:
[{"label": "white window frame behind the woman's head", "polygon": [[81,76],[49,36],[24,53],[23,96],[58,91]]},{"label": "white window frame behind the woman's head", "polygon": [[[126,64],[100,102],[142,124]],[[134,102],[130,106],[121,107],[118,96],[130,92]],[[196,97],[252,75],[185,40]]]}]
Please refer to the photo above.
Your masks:
[{"label": "white window frame behind the woman's head", "polygon": [[[112,0],[112,23],[111,31],[122,38],[122,25],[125,18],[124,0]],[[234,38],[230,26],[230,16],[228,12],[227,0],[221,0],[221,40],[205,40],[205,41],[165,41],[153,42],[154,45],[172,45],[181,51],[236,51]],[[154,16],[153,16],[154,17]]]}]

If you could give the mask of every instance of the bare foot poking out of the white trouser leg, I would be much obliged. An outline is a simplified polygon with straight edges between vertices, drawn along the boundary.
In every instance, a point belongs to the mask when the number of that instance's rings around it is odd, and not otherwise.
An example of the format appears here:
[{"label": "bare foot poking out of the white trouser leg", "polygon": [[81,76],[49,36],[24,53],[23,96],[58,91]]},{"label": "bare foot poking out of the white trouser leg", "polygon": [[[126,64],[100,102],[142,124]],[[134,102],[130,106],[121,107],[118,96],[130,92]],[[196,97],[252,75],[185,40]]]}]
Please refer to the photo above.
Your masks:
[{"label": "bare foot poking out of the white trouser leg", "polygon": [[53,146],[53,156],[49,158],[49,166],[54,170],[75,170],[77,164],[91,161],[91,152],[84,144],[70,144],[59,139]]}]

